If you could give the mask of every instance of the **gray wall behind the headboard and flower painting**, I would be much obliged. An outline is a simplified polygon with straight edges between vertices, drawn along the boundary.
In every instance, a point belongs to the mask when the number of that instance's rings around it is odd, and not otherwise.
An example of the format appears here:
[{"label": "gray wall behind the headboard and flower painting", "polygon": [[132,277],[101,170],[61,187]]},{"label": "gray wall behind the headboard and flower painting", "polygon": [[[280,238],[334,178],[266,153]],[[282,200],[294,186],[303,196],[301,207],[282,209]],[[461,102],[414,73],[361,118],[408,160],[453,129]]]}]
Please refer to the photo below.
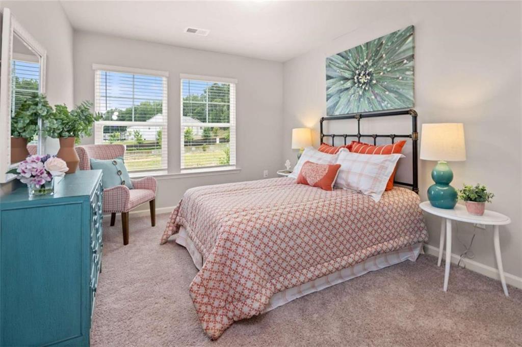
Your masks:
[{"label": "gray wall behind the headboard and flower painting", "polygon": [[[313,127],[319,144],[318,119],[326,114],[325,58],[389,32],[415,26],[415,98],[420,123],[463,122],[467,160],[450,163],[460,187],[463,182],[487,184],[495,193],[488,208],[510,216],[501,227],[504,269],[522,276],[520,234],[520,3],[407,2],[381,3],[386,15],[284,64],[284,156],[290,150],[291,129]],[[403,120],[376,122],[373,132],[397,131]],[[330,129],[348,127],[330,123]],[[334,128],[332,128],[332,126]],[[342,133],[342,132],[341,132]],[[434,162],[420,160],[421,199],[432,184]],[[403,165],[401,169],[404,169]],[[404,173],[404,170],[402,170]],[[438,247],[440,221],[426,216],[429,244]],[[469,243],[473,227],[455,224],[453,253]],[[458,238],[458,239],[457,239]],[[496,268],[491,230],[477,230],[474,261]],[[483,267],[482,272],[487,272]],[[508,280],[518,281],[514,276]],[[441,282],[442,286],[442,282]],[[522,283],[518,282],[522,287]],[[500,291],[500,288],[499,288]]]}]

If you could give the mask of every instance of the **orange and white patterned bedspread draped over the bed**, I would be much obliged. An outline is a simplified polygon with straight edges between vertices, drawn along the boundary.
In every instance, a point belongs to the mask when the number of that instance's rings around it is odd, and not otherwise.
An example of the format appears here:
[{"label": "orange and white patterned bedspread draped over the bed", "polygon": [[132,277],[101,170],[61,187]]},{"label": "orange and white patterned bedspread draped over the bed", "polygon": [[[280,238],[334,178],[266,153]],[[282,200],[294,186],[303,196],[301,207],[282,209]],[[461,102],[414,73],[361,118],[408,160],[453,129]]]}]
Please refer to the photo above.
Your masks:
[{"label": "orange and white patterned bedspread draped over the bed", "polygon": [[428,239],[411,190],[394,188],[375,203],[292,178],[189,189],[161,243],[180,226],[205,260],[189,291],[211,339],[262,313],[281,290]]}]

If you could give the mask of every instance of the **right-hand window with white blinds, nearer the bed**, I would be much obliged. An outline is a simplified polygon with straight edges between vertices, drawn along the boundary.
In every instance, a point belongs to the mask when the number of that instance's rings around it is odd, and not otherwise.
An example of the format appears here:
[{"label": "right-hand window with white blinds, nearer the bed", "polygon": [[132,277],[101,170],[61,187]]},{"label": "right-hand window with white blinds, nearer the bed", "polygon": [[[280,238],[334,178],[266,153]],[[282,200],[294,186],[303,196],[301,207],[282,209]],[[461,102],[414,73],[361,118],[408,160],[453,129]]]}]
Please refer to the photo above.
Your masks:
[{"label": "right-hand window with white blinds, nearer the bed", "polygon": [[181,75],[181,169],[235,165],[233,79]]}]

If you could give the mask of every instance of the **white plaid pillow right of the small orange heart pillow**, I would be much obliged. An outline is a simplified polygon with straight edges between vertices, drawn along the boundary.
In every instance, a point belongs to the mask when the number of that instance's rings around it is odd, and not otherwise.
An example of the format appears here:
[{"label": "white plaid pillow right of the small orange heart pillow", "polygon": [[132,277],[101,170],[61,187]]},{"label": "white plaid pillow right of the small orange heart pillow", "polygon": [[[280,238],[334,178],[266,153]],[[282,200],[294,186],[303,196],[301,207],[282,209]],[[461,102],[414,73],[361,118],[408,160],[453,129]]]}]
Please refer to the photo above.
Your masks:
[{"label": "white plaid pillow right of the small orange heart pillow", "polygon": [[402,154],[359,154],[343,148],[336,164],[341,164],[335,187],[357,190],[381,200],[386,183]]}]

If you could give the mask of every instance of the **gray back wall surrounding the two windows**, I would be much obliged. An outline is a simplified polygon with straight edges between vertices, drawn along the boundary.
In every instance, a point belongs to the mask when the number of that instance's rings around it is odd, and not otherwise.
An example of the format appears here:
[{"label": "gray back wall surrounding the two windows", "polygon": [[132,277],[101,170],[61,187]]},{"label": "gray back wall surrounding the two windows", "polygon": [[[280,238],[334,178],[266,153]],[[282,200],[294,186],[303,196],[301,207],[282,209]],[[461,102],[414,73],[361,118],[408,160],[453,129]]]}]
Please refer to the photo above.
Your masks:
[{"label": "gray back wall surrounding the two windows", "polygon": [[[94,101],[92,64],[169,71],[169,172],[180,171],[180,73],[238,79],[236,86],[236,166],[239,173],[201,177],[158,177],[157,207],[177,204],[185,190],[198,185],[270,177],[281,163],[283,64],[274,61],[198,51],[145,41],[74,34],[75,103]],[[86,138],[82,143],[93,143]],[[140,209],[148,208],[143,206]]]}]

